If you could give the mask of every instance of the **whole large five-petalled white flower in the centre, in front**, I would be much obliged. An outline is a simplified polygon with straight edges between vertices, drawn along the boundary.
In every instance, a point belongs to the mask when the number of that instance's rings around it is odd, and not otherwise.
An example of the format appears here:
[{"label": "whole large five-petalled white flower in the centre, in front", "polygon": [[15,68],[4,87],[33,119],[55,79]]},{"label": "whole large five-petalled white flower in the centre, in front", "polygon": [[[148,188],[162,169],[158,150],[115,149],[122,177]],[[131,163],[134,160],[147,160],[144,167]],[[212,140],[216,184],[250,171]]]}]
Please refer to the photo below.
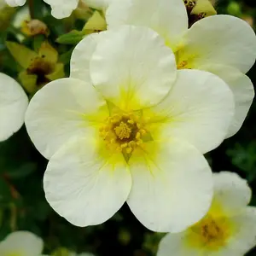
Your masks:
[{"label": "whole large five-petalled white flower in the centre, in front", "polygon": [[233,104],[212,73],[177,72],[172,50],[148,28],[84,38],[71,78],[44,86],[26,112],[32,142],[49,159],[47,201],[79,226],[101,224],[127,201],[148,229],[183,230],[211,203],[201,153],[223,141]]}]

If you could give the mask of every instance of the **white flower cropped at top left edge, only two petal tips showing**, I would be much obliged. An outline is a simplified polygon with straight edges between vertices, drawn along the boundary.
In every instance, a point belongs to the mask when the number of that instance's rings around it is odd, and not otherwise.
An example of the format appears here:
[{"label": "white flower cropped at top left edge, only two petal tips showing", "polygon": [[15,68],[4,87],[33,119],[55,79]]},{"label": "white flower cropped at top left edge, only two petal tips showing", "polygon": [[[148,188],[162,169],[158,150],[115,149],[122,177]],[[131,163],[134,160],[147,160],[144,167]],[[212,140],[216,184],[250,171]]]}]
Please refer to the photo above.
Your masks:
[{"label": "white flower cropped at top left edge, only two petal tips showing", "polygon": [[[9,6],[22,6],[26,0],[5,0]],[[57,19],[62,19],[70,16],[74,9],[78,7],[79,0],[44,0],[52,9],[51,15]]]}]

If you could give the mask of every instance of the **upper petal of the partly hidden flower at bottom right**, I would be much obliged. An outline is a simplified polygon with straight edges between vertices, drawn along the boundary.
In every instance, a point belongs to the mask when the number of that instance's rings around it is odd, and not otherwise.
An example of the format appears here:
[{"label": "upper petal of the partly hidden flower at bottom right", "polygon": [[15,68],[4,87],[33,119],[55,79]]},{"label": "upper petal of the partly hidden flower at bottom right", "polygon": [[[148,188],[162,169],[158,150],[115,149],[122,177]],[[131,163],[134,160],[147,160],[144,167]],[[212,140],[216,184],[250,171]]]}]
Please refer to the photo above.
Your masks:
[{"label": "upper petal of the partly hidden flower at bottom right", "polygon": [[236,213],[246,207],[252,197],[252,191],[245,179],[235,172],[219,172],[213,174],[214,200],[225,212]]}]

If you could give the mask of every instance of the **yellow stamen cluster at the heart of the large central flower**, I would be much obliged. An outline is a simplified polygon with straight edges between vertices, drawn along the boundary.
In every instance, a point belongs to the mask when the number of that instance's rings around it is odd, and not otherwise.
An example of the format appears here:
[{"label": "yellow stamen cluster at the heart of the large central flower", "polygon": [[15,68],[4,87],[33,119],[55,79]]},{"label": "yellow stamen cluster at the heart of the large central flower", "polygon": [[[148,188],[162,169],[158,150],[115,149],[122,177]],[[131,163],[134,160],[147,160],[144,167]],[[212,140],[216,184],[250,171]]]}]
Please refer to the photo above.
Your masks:
[{"label": "yellow stamen cluster at the heart of the large central flower", "polygon": [[135,113],[114,113],[100,128],[100,136],[109,150],[131,154],[143,145],[143,135],[147,133],[143,127],[143,118]]}]

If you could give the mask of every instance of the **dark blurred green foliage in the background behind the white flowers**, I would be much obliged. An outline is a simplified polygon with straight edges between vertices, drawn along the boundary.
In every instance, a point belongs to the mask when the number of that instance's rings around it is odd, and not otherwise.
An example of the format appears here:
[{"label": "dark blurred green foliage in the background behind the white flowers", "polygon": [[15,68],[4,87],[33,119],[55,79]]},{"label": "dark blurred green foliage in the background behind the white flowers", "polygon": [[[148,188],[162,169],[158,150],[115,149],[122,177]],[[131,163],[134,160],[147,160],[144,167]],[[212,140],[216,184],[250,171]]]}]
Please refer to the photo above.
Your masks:
[{"label": "dark blurred green foliage in the background behind the white flowers", "polygon": [[[84,36],[80,31],[86,20],[76,19],[75,15],[56,20],[50,15],[49,6],[41,0],[35,0],[33,7],[33,17],[49,26],[49,43],[58,50],[59,61],[65,65],[68,76],[70,56],[75,44]],[[215,8],[218,14],[237,15],[255,28],[254,0],[218,0]],[[0,72],[14,78],[17,78],[20,67],[4,42],[17,42],[17,34],[22,35],[22,32],[13,25],[0,32]],[[42,37],[46,38],[44,35],[25,37],[23,44],[37,50]],[[256,84],[256,66],[248,75]],[[253,189],[253,206],[256,206],[255,116],[256,104],[253,102],[241,131],[207,154],[213,172],[232,171],[247,178]],[[87,228],[75,227],[58,216],[44,198],[42,182],[46,165],[47,160],[33,147],[25,127],[8,141],[0,143],[0,240],[13,230],[30,230],[44,239],[44,253],[53,252],[57,247],[67,247],[76,252],[91,252],[99,256],[113,252],[122,256],[155,254],[164,234],[145,229],[126,205],[105,224]],[[256,249],[247,255],[255,254]]]}]

